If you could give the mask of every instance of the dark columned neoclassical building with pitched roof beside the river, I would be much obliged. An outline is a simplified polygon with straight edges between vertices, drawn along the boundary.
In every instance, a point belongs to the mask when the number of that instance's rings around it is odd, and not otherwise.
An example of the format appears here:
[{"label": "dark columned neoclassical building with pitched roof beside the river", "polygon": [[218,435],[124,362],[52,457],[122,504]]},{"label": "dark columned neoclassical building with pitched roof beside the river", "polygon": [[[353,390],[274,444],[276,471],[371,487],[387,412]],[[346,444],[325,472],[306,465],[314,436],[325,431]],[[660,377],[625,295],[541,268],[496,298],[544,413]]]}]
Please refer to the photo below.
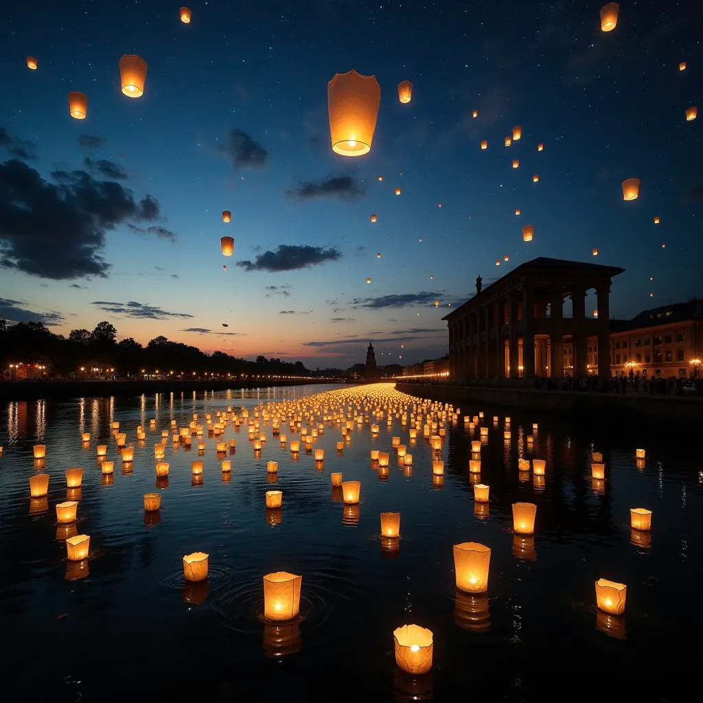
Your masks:
[{"label": "dark columned neoclassical building with pitched roof beside the river", "polygon": [[[597,368],[599,376],[609,377],[610,354],[589,359],[588,338],[610,349],[610,285],[624,270],[538,257],[485,290],[477,278],[476,295],[442,318],[449,327],[449,377],[560,378],[565,342],[572,345],[572,375],[582,378]],[[587,306],[590,290],[595,295]],[[563,314],[567,297],[570,318]]]}]

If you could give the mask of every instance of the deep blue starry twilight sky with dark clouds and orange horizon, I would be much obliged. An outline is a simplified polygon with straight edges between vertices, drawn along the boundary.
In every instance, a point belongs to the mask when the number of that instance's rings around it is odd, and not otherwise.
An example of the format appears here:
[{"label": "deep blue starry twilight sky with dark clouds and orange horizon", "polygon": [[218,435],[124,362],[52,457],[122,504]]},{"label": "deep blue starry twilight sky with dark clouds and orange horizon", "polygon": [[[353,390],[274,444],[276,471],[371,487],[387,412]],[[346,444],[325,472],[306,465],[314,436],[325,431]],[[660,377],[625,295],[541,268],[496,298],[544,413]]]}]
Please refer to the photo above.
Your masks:
[{"label": "deep blue starry twilight sky with dark clouds and orange horizon", "polygon": [[[447,304],[538,256],[626,268],[617,318],[703,293],[694,0],[623,2],[612,32],[583,1],[189,7],[190,24],[157,0],[4,11],[0,318],[344,368],[370,340],[378,363],[445,354]],[[138,99],[125,53],[148,63]],[[381,87],[356,158],[333,153],[327,110],[352,68]]]}]

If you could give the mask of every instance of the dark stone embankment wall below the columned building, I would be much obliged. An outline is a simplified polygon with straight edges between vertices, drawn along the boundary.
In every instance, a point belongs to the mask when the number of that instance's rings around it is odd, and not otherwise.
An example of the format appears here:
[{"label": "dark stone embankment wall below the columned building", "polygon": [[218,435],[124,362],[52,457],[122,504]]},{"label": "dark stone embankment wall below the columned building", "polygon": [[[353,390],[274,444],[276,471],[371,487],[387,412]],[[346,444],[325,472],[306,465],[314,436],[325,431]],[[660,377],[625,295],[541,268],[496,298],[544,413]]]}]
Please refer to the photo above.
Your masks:
[{"label": "dark stone embankment wall below the columned building", "polygon": [[534,408],[540,413],[570,415],[574,420],[599,423],[629,424],[644,420],[657,425],[681,426],[703,421],[703,399],[696,397],[422,383],[398,383],[396,388],[441,402],[469,401],[496,408]]}]

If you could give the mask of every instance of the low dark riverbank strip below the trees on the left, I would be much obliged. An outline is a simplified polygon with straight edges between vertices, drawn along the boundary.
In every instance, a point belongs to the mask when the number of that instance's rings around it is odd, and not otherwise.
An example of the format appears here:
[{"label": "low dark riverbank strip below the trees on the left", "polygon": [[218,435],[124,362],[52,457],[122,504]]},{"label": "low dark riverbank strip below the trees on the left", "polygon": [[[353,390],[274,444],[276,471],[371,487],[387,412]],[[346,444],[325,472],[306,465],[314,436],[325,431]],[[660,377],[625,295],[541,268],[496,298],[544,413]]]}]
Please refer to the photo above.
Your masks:
[{"label": "low dark riverbank strip below the trees on the left", "polygon": [[155,393],[182,393],[193,391],[222,391],[227,389],[269,388],[273,386],[318,385],[344,383],[329,378],[316,379],[254,379],[233,380],[119,380],[119,381],[4,381],[0,383],[0,401],[68,400],[104,396],[136,396]]}]

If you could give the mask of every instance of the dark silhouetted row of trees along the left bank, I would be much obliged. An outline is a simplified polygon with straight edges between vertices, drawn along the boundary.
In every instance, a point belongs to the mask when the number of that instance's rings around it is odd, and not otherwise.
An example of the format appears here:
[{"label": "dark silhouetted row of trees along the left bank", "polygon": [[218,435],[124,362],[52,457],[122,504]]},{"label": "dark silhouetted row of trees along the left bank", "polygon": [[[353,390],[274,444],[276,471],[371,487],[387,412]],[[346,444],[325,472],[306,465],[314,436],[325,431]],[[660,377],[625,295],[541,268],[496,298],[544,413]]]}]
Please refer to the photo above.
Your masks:
[{"label": "dark silhouetted row of trees along the left bank", "polygon": [[[7,325],[0,321],[0,363],[7,369],[14,363],[31,363],[46,366],[47,377],[75,374],[91,377],[92,369],[99,368],[99,375],[119,378],[146,373],[201,378],[207,373],[231,375],[342,375],[337,369],[311,372],[300,361],[290,363],[280,359],[258,356],[256,361],[238,359],[236,356],[213,352],[205,354],[197,347],[182,342],[171,342],[166,337],[155,337],[146,347],[131,337],[117,342],[117,330],[109,322],[101,322],[94,330],[71,330],[68,337],[56,335],[39,322]],[[81,368],[84,371],[81,371]],[[108,369],[108,373],[105,373]],[[195,372],[195,377],[193,377]],[[336,372],[336,373],[335,373]]]}]

